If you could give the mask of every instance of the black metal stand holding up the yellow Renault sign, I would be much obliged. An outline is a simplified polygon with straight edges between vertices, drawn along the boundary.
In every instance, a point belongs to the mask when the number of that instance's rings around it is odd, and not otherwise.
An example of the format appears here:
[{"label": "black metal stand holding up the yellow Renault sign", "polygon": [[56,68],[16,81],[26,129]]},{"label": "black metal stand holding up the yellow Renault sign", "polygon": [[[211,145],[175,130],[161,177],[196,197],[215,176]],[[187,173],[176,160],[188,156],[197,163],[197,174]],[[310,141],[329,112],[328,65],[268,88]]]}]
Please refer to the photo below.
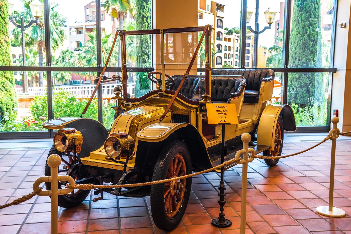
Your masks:
[{"label": "black metal stand holding up the yellow Renault sign", "polygon": [[[224,146],[225,146],[225,140],[224,140],[224,131],[225,131],[225,124],[222,124],[222,156],[221,156],[221,164],[224,163]],[[232,221],[230,221],[229,219],[226,219],[224,216],[224,205],[227,202],[224,199],[225,193],[224,190],[226,189],[224,186],[224,168],[221,167],[220,169],[220,184],[218,186],[219,189],[219,199],[218,199],[218,203],[219,203],[219,216],[217,219],[213,219],[212,220],[212,225],[215,227],[230,227],[232,226]]]}]

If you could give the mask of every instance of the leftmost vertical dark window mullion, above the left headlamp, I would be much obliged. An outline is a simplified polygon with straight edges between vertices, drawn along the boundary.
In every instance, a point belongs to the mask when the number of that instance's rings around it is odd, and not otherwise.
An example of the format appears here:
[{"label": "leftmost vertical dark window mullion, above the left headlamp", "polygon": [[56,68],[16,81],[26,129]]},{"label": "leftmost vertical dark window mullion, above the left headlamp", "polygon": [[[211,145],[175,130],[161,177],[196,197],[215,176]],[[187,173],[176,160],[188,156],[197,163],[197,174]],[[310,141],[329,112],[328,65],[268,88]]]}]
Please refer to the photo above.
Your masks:
[{"label": "leftmost vertical dark window mullion, above the left headlamp", "polygon": [[[50,38],[50,2],[44,1],[44,24],[45,24],[45,56],[46,66],[51,67],[51,38]],[[46,92],[47,92],[47,118],[53,119],[53,92],[52,92],[52,72],[46,72]],[[49,129],[48,137],[53,137],[53,130]]]}]

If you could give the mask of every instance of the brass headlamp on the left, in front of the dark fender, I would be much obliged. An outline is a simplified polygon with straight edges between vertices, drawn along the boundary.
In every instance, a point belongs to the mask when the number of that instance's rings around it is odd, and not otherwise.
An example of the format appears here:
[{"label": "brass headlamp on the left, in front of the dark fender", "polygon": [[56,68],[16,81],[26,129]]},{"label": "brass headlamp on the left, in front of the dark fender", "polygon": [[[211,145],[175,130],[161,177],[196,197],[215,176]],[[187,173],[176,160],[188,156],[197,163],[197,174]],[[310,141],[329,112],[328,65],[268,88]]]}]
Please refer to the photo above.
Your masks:
[{"label": "brass headlamp on the left, in front of the dark fender", "polygon": [[74,128],[62,128],[54,135],[53,141],[55,148],[60,152],[74,152],[75,150],[77,153],[80,153],[83,136]]}]

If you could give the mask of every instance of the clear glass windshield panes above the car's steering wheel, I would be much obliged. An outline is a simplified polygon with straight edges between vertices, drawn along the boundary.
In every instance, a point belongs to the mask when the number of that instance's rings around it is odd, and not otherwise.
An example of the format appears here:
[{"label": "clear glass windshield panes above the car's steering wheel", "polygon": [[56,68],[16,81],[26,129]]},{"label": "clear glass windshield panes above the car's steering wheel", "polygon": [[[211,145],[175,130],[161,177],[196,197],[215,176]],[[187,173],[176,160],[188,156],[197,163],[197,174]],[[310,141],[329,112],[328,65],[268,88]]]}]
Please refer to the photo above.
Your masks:
[{"label": "clear glass windshield panes above the car's steering wheel", "polygon": [[[166,76],[165,88],[176,91],[196,51],[203,34],[202,31],[203,28],[201,28],[201,32],[126,34],[128,98],[139,98],[155,89],[162,89],[163,87],[158,85],[158,82],[161,81],[163,67]],[[162,56],[162,49],[164,56]],[[190,69],[189,76],[204,75],[205,61],[204,38]],[[148,76],[147,74],[150,72],[154,72],[154,74]],[[169,79],[169,76],[174,79],[174,82]],[[184,85],[186,85],[186,82]]]}]

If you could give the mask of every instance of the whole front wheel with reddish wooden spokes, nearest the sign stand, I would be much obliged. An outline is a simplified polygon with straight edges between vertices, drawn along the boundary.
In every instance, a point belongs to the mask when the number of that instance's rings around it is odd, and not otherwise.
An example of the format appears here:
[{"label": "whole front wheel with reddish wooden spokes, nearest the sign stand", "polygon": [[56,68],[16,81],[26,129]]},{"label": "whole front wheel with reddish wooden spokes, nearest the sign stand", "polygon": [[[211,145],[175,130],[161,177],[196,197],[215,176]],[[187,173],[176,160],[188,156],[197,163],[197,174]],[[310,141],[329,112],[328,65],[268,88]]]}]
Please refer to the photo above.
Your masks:
[{"label": "whole front wheel with reddish wooden spokes, nearest the sign stand", "polygon": [[[192,171],[188,148],[183,142],[171,141],[161,151],[152,181],[170,179]],[[191,177],[151,186],[151,212],[155,225],[162,230],[176,228],[188,204]]]}]

